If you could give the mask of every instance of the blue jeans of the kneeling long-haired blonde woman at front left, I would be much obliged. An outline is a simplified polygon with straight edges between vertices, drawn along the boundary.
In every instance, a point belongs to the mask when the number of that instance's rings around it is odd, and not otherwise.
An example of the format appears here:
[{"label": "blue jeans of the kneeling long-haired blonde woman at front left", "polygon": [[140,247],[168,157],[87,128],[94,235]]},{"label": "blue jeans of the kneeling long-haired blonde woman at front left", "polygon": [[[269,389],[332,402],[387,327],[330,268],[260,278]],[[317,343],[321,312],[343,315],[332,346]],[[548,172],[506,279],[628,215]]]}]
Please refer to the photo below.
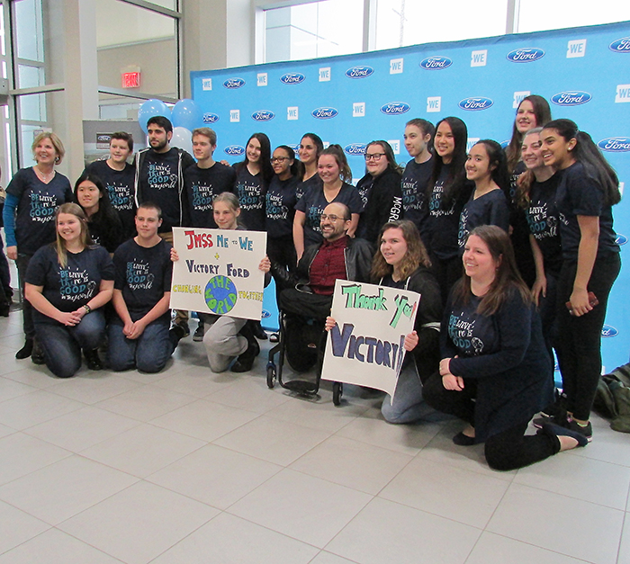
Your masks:
[{"label": "blue jeans of the kneeling long-haired blonde woman at front left", "polygon": [[103,342],[105,318],[97,309],[86,314],[75,327],[36,321],[35,336],[49,371],[59,378],[70,378],[81,368],[81,349],[94,350]]}]

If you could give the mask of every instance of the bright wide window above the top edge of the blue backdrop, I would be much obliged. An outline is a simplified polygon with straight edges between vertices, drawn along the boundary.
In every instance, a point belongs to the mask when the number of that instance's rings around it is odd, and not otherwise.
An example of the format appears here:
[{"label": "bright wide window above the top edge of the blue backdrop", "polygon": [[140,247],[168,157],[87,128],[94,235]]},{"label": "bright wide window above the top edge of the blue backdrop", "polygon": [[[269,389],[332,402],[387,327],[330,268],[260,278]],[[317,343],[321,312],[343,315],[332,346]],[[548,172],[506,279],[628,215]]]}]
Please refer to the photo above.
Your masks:
[{"label": "bright wide window above the top edge of the blue backdrop", "polygon": [[257,7],[266,22],[260,62],[630,20],[630,2],[619,0],[257,0]]}]

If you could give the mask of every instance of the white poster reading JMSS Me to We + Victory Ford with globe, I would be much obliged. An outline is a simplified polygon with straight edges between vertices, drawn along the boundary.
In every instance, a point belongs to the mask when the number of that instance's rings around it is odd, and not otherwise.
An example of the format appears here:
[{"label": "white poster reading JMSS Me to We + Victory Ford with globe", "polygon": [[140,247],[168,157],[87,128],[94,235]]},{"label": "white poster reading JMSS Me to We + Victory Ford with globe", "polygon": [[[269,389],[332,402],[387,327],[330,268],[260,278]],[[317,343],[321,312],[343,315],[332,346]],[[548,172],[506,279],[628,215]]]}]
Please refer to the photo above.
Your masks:
[{"label": "white poster reading JMSS Me to We + Victory Ford with globe", "polygon": [[260,319],[266,233],[173,228],[179,260],[173,264],[171,308]]}]

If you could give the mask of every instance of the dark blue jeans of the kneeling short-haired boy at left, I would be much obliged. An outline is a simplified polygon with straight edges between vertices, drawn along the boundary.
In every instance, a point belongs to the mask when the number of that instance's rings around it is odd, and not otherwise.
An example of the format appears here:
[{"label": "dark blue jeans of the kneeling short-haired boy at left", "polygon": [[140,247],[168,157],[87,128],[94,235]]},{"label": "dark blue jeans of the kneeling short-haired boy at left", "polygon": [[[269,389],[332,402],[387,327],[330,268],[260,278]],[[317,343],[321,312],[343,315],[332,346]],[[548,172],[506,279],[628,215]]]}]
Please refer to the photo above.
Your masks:
[{"label": "dark blue jeans of the kneeling short-haired boy at left", "polygon": [[156,319],[149,323],[137,339],[124,336],[122,327],[121,320],[115,319],[107,330],[107,362],[112,370],[120,372],[137,368],[141,372],[161,371],[177,345],[176,337],[168,331],[168,319]]}]

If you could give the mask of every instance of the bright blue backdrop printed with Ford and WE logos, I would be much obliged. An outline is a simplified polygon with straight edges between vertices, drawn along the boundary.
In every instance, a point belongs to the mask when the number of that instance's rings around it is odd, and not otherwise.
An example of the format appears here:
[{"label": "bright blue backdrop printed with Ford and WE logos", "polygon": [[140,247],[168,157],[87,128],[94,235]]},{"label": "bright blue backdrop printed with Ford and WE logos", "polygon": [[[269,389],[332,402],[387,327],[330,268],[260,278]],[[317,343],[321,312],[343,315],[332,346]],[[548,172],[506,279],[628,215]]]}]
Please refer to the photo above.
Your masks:
[{"label": "bright blue backdrop printed with Ford and WE logos", "polygon": [[[256,131],[269,136],[272,150],[297,148],[313,131],[345,148],[358,179],[373,139],[389,141],[401,164],[410,159],[402,134],[412,118],[436,123],[455,115],[468,126],[469,146],[484,138],[505,142],[518,103],[540,94],[554,118],[590,133],[622,190],[630,179],[630,22],[197,71],[191,82],[204,124],[218,134],[215,158],[230,163],[243,160]],[[624,262],[630,260],[626,200],[614,209]],[[608,304],[602,341],[608,370],[630,353],[629,278],[626,265]]]}]

